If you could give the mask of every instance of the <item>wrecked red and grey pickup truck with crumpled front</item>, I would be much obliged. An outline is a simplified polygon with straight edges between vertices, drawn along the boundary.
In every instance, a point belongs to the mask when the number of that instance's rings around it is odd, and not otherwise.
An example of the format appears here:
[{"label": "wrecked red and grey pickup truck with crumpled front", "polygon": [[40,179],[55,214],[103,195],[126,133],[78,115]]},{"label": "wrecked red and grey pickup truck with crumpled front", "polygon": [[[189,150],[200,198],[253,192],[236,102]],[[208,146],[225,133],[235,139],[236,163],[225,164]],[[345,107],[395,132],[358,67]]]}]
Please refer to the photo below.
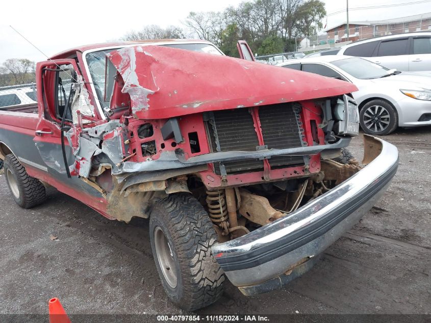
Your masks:
[{"label": "wrecked red and grey pickup truck with crumpled front", "polygon": [[253,295],[303,274],[385,192],[396,148],[364,136],[365,167],[345,149],[355,90],[205,41],[84,46],[37,64],[37,106],[0,111],[0,156],[21,207],[51,185],[149,218],[165,291],[194,310],[225,277]]}]

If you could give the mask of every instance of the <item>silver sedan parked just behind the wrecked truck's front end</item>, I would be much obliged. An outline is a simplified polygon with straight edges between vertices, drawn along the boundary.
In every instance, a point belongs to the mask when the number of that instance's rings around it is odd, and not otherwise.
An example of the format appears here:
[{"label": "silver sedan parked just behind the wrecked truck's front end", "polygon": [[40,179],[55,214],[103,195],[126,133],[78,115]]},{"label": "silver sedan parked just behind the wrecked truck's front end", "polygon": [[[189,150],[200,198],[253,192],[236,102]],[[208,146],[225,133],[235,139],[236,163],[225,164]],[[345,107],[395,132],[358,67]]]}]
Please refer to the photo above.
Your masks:
[{"label": "silver sedan parked just behind the wrecked truck's front end", "polygon": [[397,127],[431,125],[431,76],[389,70],[359,57],[321,56],[278,66],[351,82],[361,128],[388,135]]}]

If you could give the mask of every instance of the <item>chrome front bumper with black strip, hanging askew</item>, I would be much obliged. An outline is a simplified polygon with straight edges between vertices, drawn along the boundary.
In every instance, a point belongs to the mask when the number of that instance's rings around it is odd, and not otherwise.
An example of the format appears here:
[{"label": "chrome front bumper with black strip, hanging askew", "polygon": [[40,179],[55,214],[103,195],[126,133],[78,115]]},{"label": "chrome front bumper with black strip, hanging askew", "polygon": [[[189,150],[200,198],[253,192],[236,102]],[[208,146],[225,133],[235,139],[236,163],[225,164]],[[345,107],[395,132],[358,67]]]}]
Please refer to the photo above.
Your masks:
[{"label": "chrome front bumper with black strip, hanging askew", "polygon": [[296,275],[295,267],[305,267],[371,209],[396,173],[398,151],[371,136],[364,135],[364,142],[368,165],[354,176],[294,213],[212,247],[232,284],[244,292],[292,271]]}]

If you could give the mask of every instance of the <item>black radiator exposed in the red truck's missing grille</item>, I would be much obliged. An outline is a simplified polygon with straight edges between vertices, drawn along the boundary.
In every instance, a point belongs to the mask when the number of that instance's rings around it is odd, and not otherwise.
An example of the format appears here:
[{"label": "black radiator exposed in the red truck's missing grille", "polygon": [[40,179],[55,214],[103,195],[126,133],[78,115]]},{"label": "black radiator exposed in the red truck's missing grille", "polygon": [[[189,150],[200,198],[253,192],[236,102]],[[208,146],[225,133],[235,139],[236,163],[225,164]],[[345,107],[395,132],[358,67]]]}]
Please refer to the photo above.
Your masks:
[{"label": "black radiator exposed in the red truck's missing grille", "polygon": [[[264,144],[268,148],[300,147],[298,123],[292,104],[277,104],[259,108]],[[248,108],[213,111],[206,126],[213,152],[256,151],[260,146],[253,118]],[[271,168],[303,165],[302,156],[274,156],[268,159]],[[246,159],[223,163],[228,175],[263,170],[263,161]],[[220,175],[220,163],[214,163],[214,172]]]}]

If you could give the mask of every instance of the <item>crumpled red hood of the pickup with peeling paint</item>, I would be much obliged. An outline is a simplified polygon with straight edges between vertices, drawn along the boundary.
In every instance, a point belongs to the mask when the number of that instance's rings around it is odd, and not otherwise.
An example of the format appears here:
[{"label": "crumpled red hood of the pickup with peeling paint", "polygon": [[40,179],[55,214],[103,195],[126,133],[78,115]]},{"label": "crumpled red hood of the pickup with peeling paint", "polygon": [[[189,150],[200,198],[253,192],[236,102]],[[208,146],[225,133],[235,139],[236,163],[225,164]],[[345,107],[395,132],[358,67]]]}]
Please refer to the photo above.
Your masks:
[{"label": "crumpled red hood of the pickup with peeling paint", "polygon": [[142,119],[309,100],[357,91],[351,83],[246,60],[157,45],[108,55]]}]

